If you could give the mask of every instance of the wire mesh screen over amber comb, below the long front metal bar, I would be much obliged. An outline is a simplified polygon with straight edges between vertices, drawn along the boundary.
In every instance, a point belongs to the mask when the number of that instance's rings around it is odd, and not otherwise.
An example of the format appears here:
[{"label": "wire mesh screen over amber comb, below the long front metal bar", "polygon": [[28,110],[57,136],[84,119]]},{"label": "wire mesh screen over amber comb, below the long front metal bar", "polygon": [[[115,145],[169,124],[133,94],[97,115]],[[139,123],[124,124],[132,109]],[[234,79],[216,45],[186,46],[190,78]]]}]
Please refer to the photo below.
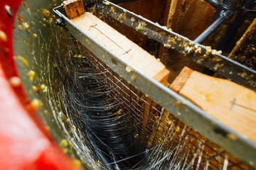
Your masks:
[{"label": "wire mesh screen over amber comb, below the long front metal bar", "polygon": [[150,169],[250,169],[119,77],[78,40],[75,44],[103,91],[119,103],[114,115],[122,117],[119,128]]}]

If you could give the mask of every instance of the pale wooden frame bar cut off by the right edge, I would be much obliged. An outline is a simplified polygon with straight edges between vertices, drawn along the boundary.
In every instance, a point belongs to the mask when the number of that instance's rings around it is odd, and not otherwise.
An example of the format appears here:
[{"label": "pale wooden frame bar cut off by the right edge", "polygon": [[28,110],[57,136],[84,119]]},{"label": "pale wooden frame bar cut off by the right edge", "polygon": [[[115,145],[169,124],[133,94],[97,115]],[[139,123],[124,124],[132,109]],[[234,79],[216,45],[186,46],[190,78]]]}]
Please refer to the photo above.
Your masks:
[{"label": "pale wooden frame bar cut off by the right edge", "polygon": [[[213,118],[256,142],[256,93],[226,79],[183,69],[170,89]],[[235,138],[234,138],[235,140]]]}]

